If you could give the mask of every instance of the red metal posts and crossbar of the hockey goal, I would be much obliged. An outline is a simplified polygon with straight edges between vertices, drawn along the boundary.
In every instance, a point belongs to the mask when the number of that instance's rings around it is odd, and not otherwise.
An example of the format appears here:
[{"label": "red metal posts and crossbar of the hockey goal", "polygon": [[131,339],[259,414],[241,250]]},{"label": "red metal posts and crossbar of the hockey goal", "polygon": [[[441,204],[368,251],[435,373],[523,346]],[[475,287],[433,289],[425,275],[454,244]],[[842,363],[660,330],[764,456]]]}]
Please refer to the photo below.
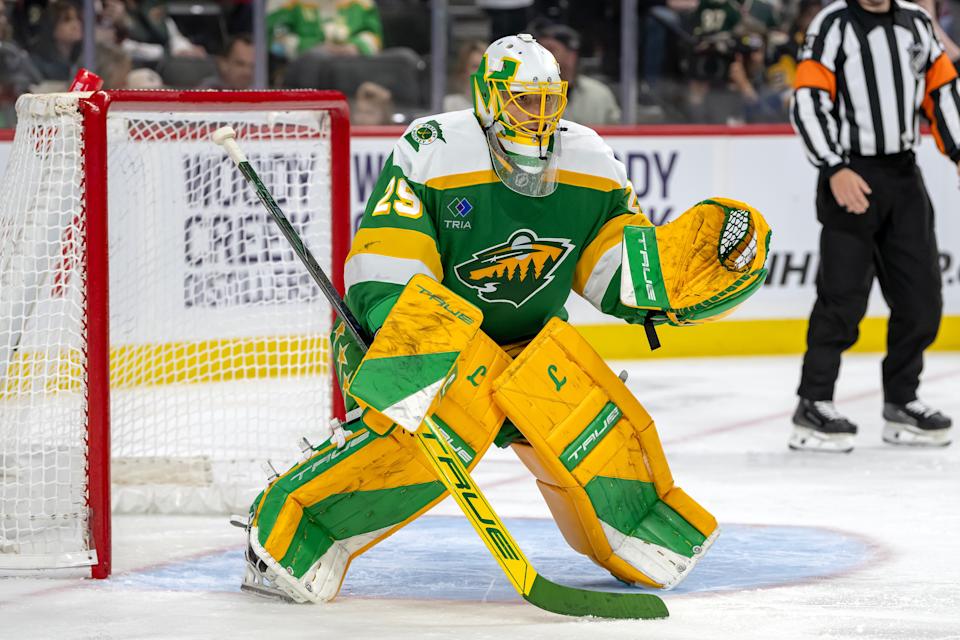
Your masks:
[{"label": "red metal posts and crossbar of the hockey goal", "polygon": [[[330,207],[332,281],[343,293],[343,269],[350,243],[350,121],[347,100],[338,91],[97,91],[81,98],[83,215],[87,319],[87,505],[90,535],[97,553],[91,577],[107,578],[112,568],[110,512],[110,293],[108,257],[109,188],[107,115],[111,108],[127,112],[171,113],[264,110],[326,111],[330,117]],[[213,142],[210,143],[211,145]],[[342,399],[331,394],[334,411]]]}]

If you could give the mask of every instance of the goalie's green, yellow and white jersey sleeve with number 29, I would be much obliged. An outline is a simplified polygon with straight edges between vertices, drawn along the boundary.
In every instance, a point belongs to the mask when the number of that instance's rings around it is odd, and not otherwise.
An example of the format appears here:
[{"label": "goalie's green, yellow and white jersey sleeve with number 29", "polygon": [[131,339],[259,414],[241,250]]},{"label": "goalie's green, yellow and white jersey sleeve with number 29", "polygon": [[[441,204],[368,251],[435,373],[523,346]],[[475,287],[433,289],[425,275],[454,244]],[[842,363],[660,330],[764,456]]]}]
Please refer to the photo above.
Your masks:
[{"label": "goalie's green, yellow and white jersey sleeve with number 29", "polygon": [[426,188],[404,171],[402,144],[387,158],[344,264],[347,306],[371,335],[410,278],[443,280]]}]

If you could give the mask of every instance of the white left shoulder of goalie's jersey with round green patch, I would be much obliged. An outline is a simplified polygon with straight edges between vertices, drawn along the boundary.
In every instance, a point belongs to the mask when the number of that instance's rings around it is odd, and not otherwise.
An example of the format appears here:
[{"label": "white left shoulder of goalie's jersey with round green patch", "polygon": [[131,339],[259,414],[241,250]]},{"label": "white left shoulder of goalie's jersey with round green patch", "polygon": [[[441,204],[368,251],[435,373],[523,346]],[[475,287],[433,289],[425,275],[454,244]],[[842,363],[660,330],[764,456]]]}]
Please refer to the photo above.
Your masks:
[{"label": "white left shoulder of goalie's jersey with round green patch", "polygon": [[489,171],[486,137],[471,109],[417,118],[393,148],[393,163],[413,182]]}]

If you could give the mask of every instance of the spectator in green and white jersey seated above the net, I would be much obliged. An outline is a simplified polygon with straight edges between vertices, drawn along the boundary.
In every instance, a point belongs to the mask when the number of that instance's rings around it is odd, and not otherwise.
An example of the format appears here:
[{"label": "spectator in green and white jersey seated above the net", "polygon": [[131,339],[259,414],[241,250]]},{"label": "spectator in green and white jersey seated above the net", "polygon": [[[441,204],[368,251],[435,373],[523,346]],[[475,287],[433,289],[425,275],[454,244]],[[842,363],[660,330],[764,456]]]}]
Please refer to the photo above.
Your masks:
[{"label": "spectator in green and white jersey seated above the net", "polygon": [[372,0],[269,0],[267,12],[270,50],[282,59],[315,49],[367,56],[383,46],[380,12]]}]

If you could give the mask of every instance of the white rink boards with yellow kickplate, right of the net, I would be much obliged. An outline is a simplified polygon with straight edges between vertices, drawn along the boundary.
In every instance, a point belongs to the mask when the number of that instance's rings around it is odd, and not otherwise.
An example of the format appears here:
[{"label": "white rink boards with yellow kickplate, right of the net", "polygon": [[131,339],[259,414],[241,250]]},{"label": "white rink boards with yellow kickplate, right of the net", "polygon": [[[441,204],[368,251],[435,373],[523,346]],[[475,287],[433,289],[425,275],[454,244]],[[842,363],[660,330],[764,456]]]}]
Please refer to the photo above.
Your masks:
[{"label": "white rink boards with yellow kickplate, right of the net", "polygon": [[[350,215],[359,222],[384,160],[402,134],[398,127],[355,128],[351,139]],[[814,300],[819,225],[814,211],[816,172],[789,126],[610,127],[604,139],[623,161],[641,207],[656,224],[675,219],[711,196],[749,202],[773,229],[770,276],[757,295],[728,322],[700,332],[669,329],[666,356],[800,353],[806,318]],[[0,171],[10,149],[9,131],[0,131]],[[934,350],[960,350],[960,216],[956,166],[925,139],[918,163],[937,211],[937,235],[944,283],[944,325]],[[476,216],[478,214],[473,213]],[[636,330],[571,297],[573,324],[609,358],[648,357]],[[886,306],[874,287],[855,349],[885,347]],[[638,346],[640,345],[640,346]]]}]

